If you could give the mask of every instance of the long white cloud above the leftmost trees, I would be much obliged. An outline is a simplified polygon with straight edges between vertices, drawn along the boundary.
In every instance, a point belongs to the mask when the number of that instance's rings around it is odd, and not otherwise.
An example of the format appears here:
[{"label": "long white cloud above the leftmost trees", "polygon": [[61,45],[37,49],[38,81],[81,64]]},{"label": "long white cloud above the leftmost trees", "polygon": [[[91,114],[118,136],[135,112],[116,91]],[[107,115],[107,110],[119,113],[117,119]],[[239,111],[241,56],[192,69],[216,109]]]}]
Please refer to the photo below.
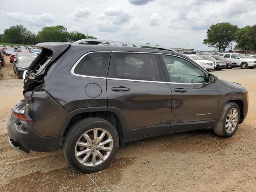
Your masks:
[{"label": "long white cloud above the leftmost trees", "polygon": [[39,15],[27,14],[25,12],[7,12],[6,16],[8,19],[17,21],[17,22],[25,22],[31,26],[45,26],[46,23],[51,23],[54,21],[54,15],[50,13],[43,13]]}]

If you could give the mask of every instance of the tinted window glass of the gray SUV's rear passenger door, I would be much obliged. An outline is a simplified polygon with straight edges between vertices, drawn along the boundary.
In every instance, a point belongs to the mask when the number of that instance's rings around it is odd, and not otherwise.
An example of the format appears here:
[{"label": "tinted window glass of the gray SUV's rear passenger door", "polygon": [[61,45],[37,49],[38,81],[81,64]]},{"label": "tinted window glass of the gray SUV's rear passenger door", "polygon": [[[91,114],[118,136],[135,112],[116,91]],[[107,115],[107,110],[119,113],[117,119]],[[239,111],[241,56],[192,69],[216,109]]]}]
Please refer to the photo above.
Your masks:
[{"label": "tinted window glass of the gray SUV's rear passenger door", "polygon": [[116,78],[160,81],[160,72],[155,54],[116,53]]}]

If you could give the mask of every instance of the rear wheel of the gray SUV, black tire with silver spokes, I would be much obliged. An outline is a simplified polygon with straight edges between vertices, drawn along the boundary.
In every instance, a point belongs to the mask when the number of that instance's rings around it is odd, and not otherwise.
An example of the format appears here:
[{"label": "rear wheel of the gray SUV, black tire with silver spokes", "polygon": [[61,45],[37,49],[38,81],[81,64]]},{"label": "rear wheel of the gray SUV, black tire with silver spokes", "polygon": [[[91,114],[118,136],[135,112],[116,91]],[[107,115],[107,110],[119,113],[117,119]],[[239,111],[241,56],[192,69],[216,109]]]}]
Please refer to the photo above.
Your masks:
[{"label": "rear wheel of the gray SUV, black tire with silver spokes", "polygon": [[[99,137],[102,135],[102,131],[105,131],[106,134],[102,140],[97,140],[94,143],[94,131],[96,128],[99,130],[97,130],[97,139],[100,139]],[[85,139],[83,136],[85,134],[87,134],[87,138],[89,138],[91,143],[88,142],[88,139]],[[112,150],[108,152],[100,150],[99,146],[102,147],[101,143],[103,143],[104,140],[106,142],[106,140],[109,139],[112,139],[112,142],[108,142],[108,144],[103,145],[103,147],[108,148],[109,150],[112,146]],[[81,145],[78,145],[78,142],[83,144],[86,143],[86,146],[82,147]],[[93,173],[104,169],[108,164],[110,164],[110,162],[112,162],[116,156],[118,148],[119,137],[115,127],[110,122],[98,117],[85,118],[76,122],[76,124],[74,124],[66,134],[63,145],[64,156],[70,166],[83,173]],[[85,150],[88,151],[89,155],[82,154],[80,156],[76,156],[80,151]],[[95,156],[95,154],[98,153],[102,154],[102,158],[107,156],[106,159],[101,160],[100,156],[96,155],[96,160],[93,161],[93,154]],[[85,159],[86,156],[89,156],[89,158],[83,163],[82,160]]]}]

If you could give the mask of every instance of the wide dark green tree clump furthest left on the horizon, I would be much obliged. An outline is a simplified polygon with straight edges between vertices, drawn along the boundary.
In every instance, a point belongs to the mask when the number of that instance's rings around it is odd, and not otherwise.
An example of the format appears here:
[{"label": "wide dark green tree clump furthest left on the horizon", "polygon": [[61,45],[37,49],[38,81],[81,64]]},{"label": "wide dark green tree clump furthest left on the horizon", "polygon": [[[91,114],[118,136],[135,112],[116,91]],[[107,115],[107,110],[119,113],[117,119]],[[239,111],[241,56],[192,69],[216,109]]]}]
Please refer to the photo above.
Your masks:
[{"label": "wide dark green tree clump furthest left on the horizon", "polygon": [[2,41],[14,44],[33,44],[35,37],[36,34],[23,25],[16,25],[4,30]]}]

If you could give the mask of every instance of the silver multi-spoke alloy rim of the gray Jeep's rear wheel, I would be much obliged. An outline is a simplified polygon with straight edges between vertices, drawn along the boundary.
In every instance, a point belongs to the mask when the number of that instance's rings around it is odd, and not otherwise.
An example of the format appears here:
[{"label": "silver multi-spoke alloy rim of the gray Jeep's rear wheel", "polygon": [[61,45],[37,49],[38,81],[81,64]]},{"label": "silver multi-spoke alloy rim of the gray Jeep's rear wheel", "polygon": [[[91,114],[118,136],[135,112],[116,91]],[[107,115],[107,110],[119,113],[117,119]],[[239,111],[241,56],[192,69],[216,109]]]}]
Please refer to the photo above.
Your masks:
[{"label": "silver multi-spoke alloy rim of the gray Jeep's rear wheel", "polygon": [[110,133],[102,128],[94,128],[80,136],[76,142],[75,156],[84,166],[97,166],[110,156],[112,148]]}]

